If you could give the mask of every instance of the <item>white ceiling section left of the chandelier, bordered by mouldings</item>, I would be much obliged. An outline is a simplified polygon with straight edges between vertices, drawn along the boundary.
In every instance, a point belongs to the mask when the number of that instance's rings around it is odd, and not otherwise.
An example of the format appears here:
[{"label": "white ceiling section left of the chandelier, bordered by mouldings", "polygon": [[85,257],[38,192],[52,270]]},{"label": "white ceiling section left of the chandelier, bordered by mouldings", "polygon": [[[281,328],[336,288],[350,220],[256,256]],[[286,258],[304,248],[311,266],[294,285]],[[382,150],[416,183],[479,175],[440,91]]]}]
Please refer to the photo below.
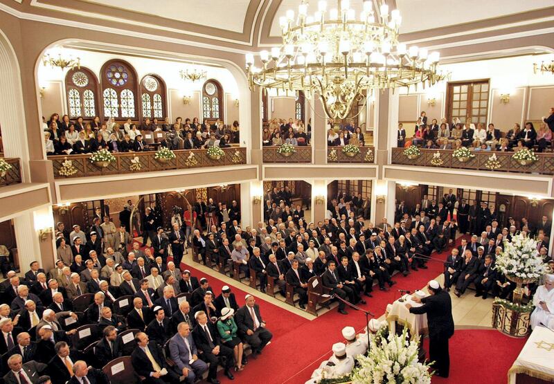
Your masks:
[{"label": "white ceiling section left of the chandelier, bordered by mouldings", "polygon": [[102,4],[242,33],[250,0],[86,0]]}]

